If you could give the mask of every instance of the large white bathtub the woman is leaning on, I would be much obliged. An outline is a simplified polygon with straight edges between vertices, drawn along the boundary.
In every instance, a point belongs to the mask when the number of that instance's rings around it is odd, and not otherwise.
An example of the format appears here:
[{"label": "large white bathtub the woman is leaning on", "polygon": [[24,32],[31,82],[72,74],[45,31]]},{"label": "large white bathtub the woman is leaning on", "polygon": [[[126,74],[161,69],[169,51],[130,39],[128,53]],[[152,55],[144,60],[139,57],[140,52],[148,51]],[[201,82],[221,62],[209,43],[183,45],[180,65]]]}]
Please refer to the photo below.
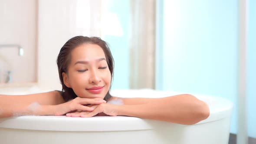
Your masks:
[{"label": "large white bathtub the woman is leaning on", "polygon": [[[0,94],[44,92],[32,88],[0,88]],[[174,92],[116,90],[119,97],[164,97]],[[233,104],[223,98],[199,96],[210,117],[194,125],[125,116],[20,116],[0,119],[1,144],[228,144]]]}]

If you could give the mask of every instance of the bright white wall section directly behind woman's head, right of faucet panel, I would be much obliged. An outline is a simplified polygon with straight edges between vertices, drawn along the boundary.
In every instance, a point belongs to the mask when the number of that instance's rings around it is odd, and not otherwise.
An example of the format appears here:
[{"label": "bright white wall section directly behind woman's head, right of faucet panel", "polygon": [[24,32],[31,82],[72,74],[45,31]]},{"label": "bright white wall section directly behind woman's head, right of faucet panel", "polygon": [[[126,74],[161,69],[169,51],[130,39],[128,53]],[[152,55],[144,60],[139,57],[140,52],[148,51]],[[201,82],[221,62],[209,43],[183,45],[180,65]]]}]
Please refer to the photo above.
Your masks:
[{"label": "bright white wall section directly behind woman's head, right of faucet panel", "polygon": [[101,0],[39,0],[38,84],[61,90],[56,59],[73,36],[101,35]]}]

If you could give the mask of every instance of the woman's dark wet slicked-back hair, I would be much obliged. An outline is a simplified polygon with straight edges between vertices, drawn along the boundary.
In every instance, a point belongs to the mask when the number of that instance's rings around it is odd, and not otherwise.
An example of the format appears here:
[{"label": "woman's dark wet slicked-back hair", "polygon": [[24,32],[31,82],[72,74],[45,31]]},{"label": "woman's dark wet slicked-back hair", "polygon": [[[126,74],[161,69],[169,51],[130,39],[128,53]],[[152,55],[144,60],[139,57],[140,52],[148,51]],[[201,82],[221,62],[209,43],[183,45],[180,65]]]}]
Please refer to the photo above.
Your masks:
[{"label": "woman's dark wet slicked-back hair", "polygon": [[[64,46],[59,51],[59,55],[57,58],[57,65],[59,69],[59,80],[62,85],[62,91],[61,95],[65,101],[72,100],[77,97],[75,92],[73,91],[72,88],[68,88],[64,82],[63,82],[63,77],[62,77],[62,72],[67,72],[68,71],[68,66],[71,62],[71,52],[73,49],[75,49],[77,46],[80,46],[82,44],[95,44],[100,46],[106,57],[106,61],[108,63],[108,68],[111,73],[111,81],[113,79],[113,72],[114,72],[114,59],[113,56],[110,52],[110,49],[108,47],[108,44],[100,39],[99,37],[87,37],[87,36],[75,36],[71,39],[69,39]],[[107,101],[109,98],[112,96],[109,94],[109,90],[107,94],[105,95],[104,100]]]}]

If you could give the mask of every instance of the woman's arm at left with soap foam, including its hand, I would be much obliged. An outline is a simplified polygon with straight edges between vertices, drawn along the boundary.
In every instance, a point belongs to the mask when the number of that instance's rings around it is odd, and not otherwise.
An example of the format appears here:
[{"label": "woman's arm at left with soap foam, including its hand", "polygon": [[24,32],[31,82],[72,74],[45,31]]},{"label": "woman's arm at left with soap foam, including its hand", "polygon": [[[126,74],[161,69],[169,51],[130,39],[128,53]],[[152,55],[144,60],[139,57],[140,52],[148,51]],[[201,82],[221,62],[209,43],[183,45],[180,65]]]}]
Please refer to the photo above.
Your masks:
[{"label": "woman's arm at left with soap foam, including its hand", "polygon": [[0,95],[0,118],[20,115],[64,115],[70,111],[93,111],[85,105],[100,105],[102,98],[74,98],[64,101],[58,91],[32,95]]}]

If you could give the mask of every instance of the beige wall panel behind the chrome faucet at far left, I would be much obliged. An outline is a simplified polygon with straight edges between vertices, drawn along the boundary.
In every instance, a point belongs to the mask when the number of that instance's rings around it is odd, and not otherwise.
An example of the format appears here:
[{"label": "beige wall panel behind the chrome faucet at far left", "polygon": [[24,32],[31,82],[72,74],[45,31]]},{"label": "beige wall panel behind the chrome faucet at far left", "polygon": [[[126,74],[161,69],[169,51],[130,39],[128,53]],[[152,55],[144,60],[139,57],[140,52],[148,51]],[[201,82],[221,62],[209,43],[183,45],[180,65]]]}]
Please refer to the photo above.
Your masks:
[{"label": "beige wall panel behind the chrome faucet at far left", "polygon": [[24,56],[18,56],[16,47],[0,48],[0,83],[7,71],[12,71],[13,82],[36,82],[37,0],[0,0],[0,45],[17,44]]}]

